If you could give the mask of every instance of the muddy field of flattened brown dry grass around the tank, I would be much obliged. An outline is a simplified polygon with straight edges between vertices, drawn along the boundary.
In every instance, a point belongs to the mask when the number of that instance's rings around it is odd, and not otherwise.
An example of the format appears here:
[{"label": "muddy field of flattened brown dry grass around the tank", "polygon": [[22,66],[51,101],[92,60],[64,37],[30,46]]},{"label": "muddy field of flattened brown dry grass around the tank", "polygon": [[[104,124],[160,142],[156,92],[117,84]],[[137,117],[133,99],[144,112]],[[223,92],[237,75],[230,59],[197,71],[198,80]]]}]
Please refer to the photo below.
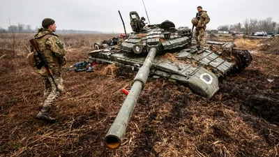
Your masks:
[{"label": "muddy field of flattened brown dry grass around the tank", "polygon": [[[14,47],[9,34],[0,37],[0,156],[279,154],[277,52],[252,47],[250,66],[221,79],[211,100],[149,78],[122,146],[112,150],[105,147],[104,137],[126,97],[120,89],[130,87],[135,73],[112,77],[103,73],[102,65],[94,73],[63,71],[66,91],[51,112],[58,121],[47,124],[34,118],[44,98],[42,79],[25,59],[31,35],[17,34]],[[61,36],[68,50],[65,68],[86,60],[94,42],[110,37]]]}]

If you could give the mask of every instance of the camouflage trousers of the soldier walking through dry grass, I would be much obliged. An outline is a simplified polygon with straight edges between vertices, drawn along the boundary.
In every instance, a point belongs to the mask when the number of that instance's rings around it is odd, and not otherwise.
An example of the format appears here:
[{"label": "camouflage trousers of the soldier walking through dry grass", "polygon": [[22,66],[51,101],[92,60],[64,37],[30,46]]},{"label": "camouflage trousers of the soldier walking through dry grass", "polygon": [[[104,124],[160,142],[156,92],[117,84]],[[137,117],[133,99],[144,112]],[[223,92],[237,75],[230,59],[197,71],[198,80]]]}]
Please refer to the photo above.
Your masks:
[{"label": "camouflage trousers of the soldier walking through dry grass", "polygon": [[61,96],[61,92],[63,91],[63,79],[61,74],[54,75],[55,83],[59,90],[56,89],[54,82],[52,81],[52,77],[50,76],[43,76],[43,83],[45,87],[44,96],[46,97],[45,101],[43,102],[43,108],[41,112],[48,112],[56,98]]}]

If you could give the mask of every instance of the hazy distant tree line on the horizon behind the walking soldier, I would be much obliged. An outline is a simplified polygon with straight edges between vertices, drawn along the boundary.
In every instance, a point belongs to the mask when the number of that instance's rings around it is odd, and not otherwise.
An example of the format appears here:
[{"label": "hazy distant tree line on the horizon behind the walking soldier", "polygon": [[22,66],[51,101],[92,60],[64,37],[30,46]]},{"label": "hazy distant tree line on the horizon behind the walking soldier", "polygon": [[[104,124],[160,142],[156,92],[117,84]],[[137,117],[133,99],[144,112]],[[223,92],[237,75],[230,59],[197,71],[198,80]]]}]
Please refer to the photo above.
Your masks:
[{"label": "hazy distant tree line on the horizon behind the walking soldier", "polygon": [[[8,29],[3,29],[0,27],[0,33],[36,33],[39,27],[33,29],[30,24],[17,24],[10,25]],[[74,29],[62,29],[56,30],[56,33],[103,33],[101,31],[82,31],[82,30],[74,30]],[[110,33],[110,32],[106,32]]]}]

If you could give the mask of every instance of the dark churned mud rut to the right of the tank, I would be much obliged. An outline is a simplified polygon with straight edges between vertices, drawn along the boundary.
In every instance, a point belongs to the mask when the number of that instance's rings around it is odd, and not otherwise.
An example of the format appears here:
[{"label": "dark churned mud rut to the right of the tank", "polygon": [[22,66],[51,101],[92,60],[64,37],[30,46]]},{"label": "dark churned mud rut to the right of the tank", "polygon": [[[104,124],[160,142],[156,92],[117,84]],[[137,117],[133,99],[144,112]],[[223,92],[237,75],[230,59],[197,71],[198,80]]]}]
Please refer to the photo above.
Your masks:
[{"label": "dark churned mud rut to the right of the tank", "polygon": [[279,77],[244,70],[241,76],[231,75],[223,80],[220,92],[227,94],[225,103],[236,100],[241,110],[279,124]]}]

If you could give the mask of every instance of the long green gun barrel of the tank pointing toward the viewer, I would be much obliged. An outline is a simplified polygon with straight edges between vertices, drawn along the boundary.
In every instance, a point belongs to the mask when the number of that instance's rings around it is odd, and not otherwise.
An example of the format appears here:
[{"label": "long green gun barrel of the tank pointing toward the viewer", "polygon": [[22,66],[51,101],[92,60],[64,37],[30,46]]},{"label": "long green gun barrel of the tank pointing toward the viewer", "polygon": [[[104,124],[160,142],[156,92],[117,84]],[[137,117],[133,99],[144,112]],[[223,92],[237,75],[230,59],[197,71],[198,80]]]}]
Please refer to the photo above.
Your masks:
[{"label": "long green gun barrel of the tank pointing toward the viewer", "polygon": [[149,54],[147,55],[142,67],[137,72],[135,79],[133,80],[133,85],[126,97],[119,113],[114,120],[114,123],[108,130],[105,136],[105,144],[111,149],[116,149],[120,147],[124,134],[126,133],[126,128],[128,122],[135,108],[135,103],[137,102],[137,97],[140,95],[142,88],[149,76],[149,71],[152,65],[152,61],[156,56],[156,47],[151,47]]}]

